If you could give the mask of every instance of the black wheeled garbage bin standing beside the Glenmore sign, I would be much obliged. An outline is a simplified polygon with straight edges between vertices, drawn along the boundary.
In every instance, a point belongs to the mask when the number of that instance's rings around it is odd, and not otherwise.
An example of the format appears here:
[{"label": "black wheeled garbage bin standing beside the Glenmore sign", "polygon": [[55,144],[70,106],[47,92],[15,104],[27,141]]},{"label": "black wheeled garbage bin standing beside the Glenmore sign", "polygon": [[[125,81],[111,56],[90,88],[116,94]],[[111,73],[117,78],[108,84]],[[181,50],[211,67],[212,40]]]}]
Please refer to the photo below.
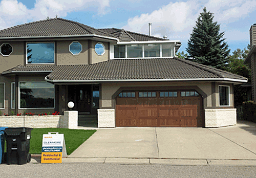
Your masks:
[{"label": "black wheeled garbage bin standing beside the Glenmore sign", "polygon": [[32,128],[9,127],[4,130],[7,142],[7,164],[26,164],[31,161],[29,143]]}]

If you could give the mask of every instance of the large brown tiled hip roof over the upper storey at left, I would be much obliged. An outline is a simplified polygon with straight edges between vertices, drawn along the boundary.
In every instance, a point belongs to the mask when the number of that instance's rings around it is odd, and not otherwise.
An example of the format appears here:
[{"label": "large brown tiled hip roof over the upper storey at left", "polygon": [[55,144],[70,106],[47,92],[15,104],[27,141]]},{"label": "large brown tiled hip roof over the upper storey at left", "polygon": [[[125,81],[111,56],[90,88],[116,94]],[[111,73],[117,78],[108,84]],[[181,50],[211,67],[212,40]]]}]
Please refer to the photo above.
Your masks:
[{"label": "large brown tiled hip roof over the upper storey at left", "polygon": [[51,18],[0,30],[0,39],[1,37],[49,37],[93,34],[116,38],[111,34],[77,23],[76,21]]}]

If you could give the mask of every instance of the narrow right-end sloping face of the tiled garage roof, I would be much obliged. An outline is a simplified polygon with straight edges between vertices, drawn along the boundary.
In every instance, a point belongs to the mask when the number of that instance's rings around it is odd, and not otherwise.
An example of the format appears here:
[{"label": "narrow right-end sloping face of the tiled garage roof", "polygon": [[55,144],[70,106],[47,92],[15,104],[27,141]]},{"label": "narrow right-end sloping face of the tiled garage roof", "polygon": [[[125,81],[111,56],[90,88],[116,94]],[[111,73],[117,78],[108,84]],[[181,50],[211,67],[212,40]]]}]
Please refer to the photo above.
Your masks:
[{"label": "narrow right-end sloping face of the tiled garage roof", "polygon": [[[197,62],[192,62],[192,61],[189,61],[189,60],[186,60],[186,59],[182,59],[182,58],[178,58],[178,57],[174,57],[175,59],[178,59],[182,62],[185,62],[185,63],[188,63],[190,65],[193,65],[197,68],[200,68],[202,70],[205,70],[207,72],[211,72],[212,74],[215,74],[217,75],[218,77],[225,77],[223,74],[221,73],[225,73],[225,74],[231,74],[231,75],[234,75],[234,76],[238,76],[238,77],[241,77],[240,75],[237,75],[237,74],[233,74],[233,73],[230,73],[230,72],[227,72],[227,71],[223,71],[223,70],[220,70],[220,69],[216,69],[216,68],[213,68],[212,66],[207,66],[207,65],[204,65],[204,64],[201,64],[201,63],[197,63]],[[218,71],[218,72],[217,72]],[[243,77],[243,76],[242,76]],[[243,78],[246,78],[246,77],[243,77]]]}]

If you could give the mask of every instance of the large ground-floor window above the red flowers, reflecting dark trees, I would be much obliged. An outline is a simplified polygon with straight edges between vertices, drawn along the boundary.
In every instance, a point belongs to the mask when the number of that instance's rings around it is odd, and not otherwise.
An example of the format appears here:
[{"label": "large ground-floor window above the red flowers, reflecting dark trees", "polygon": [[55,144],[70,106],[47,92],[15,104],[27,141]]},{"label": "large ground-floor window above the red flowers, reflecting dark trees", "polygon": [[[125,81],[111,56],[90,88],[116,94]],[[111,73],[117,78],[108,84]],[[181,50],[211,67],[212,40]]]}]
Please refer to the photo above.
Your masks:
[{"label": "large ground-floor window above the red flowers, reflecting dark trees", "polygon": [[19,82],[19,108],[54,108],[54,84]]}]

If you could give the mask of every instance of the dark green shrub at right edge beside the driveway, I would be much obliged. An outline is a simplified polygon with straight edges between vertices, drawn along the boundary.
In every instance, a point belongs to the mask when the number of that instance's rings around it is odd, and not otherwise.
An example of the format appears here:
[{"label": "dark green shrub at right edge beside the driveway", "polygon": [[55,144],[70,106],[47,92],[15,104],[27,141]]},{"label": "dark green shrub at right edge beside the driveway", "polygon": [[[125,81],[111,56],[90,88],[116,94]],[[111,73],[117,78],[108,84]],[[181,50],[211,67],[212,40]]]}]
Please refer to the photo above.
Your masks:
[{"label": "dark green shrub at right edge beside the driveway", "polygon": [[243,119],[256,122],[256,103],[254,101],[243,102]]}]

